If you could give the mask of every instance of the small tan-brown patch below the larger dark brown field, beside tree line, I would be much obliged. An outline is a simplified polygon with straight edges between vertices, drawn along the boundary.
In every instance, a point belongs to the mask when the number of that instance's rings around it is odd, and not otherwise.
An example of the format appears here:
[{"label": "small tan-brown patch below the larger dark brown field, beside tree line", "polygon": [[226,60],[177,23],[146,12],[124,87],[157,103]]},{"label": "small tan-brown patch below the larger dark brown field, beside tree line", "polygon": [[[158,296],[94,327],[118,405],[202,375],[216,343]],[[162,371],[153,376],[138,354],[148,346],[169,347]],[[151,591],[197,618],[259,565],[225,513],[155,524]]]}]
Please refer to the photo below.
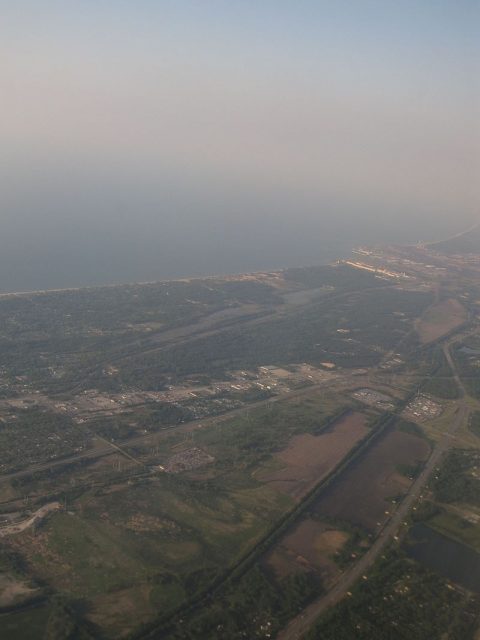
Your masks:
[{"label": "small tan-brown patch below the larger dark brown field, beside tree line", "polygon": [[348,533],[329,529],[315,520],[304,520],[284,536],[267,563],[279,578],[298,571],[315,571],[325,585],[338,575],[339,569],[333,560],[348,540]]}]

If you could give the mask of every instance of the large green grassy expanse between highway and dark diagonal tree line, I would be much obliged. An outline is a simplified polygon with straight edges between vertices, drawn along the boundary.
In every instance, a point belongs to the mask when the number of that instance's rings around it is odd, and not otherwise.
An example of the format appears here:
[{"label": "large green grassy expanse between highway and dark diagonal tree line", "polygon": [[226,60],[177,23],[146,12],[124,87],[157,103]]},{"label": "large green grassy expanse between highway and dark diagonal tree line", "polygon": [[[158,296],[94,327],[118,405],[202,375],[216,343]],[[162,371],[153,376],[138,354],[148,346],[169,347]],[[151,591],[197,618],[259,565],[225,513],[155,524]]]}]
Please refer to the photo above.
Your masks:
[{"label": "large green grassy expanse between highway and dark diagonal tree line", "polygon": [[[97,462],[94,487],[71,488],[67,511],[6,544],[32,576],[84,603],[99,636],[123,637],[204,589],[292,508],[292,497],[265,478],[292,442],[312,438],[334,466],[368,432],[371,413],[335,420],[346,406],[334,394],[313,391],[197,429],[193,441],[165,435],[157,462],[192,445],[214,459],[185,473],[144,470],[122,480],[110,477],[110,463]],[[340,449],[337,428],[352,432]],[[67,469],[48,483],[85,480],[89,467]]]}]

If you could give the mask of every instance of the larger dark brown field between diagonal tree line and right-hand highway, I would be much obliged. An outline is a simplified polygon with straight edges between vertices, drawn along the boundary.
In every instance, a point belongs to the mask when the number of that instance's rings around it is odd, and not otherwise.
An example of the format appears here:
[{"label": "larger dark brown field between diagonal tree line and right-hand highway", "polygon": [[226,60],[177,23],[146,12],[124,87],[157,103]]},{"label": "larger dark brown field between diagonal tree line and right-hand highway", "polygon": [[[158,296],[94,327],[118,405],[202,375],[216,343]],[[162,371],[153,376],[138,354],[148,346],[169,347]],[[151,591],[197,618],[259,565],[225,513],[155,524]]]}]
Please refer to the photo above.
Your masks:
[{"label": "larger dark brown field between diagonal tree line and right-hand highway", "polygon": [[426,460],[429,451],[423,438],[388,431],[327,489],[316,502],[315,512],[370,531],[378,529],[392,508],[387,499],[405,494],[411,483],[397,471],[398,465]]}]

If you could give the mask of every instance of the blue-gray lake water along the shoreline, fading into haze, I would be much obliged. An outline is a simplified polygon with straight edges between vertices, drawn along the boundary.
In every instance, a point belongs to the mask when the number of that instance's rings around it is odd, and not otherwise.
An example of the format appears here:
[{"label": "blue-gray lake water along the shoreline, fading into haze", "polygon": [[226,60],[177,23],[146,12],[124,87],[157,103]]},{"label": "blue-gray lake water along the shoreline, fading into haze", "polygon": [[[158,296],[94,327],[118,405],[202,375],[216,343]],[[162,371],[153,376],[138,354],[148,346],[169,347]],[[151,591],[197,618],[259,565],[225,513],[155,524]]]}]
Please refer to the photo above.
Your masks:
[{"label": "blue-gray lake water along the shoreline, fading into haze", "polygon": [[[61,201],[63,202],[63,201]],[[442,237],[444,224],[412,217],[324,214],[274,204],[194,204],[168,213],[145,203],[118,210],[66,201],[38,215],[0,216],[0,292],[224,275],[330,262],[358,244]],[[128,205],[128,206],[127,206]],[[30,204],[35,211],[35,203]]]}]

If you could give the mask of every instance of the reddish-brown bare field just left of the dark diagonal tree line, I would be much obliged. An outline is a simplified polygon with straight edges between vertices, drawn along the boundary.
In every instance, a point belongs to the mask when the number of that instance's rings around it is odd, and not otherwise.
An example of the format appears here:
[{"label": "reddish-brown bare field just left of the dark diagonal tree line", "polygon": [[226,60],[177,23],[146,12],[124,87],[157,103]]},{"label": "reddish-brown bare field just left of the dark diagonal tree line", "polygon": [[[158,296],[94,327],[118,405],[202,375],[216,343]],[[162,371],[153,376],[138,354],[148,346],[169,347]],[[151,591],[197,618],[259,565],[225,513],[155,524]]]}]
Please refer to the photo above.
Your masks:
[{"label": "reddish-brown bare field just left of the dark diagonal tree line", "polygon": [[351,412],[340,418],[318,436],[295,436],[288,447],[276,454],[282,468],[257,475],[275,489],[300,499],[345,457],[367,432],[367,418]]}]

